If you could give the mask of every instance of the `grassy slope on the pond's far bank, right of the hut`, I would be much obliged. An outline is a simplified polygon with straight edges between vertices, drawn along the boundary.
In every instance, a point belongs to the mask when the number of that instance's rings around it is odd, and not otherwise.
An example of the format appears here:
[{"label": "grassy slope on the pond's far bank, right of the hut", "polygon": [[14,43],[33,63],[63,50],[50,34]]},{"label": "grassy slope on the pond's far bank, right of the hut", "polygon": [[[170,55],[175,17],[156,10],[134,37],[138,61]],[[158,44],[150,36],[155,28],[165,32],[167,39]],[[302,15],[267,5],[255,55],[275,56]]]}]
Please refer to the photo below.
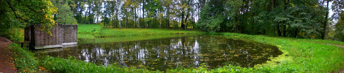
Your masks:
[{"label": "grassy slope on the pond's far bank, right of the hut", "polygon": [[[185,31],[174,29],[131,29],[131,28],[101,28],[96,24],[79,24],[79,34],[93,34],[95,37],[118,37],[118,36],[145,36],[145,35],[171,35],[171,34],[200,34],[199,31]],[[90,36],[86,36],[90,37]]]}]

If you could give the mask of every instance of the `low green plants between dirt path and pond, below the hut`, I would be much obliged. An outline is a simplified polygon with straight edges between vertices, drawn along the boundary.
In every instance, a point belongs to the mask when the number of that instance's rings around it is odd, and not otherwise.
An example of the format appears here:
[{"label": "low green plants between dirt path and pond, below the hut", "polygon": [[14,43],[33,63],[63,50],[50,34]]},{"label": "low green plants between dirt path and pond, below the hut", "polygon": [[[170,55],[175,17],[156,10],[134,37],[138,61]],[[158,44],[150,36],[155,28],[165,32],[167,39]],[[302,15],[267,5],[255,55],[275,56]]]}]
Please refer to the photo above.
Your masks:
[{"label": "low green plants between dirt path and pond, below the hut", "polygon": [[8,49],[12,50],[12,61],[20,73],[36,72],[38,61],[35,60],[34,54],[29,51],[29,48],[21,48],[19,44],[11,44]]}]

